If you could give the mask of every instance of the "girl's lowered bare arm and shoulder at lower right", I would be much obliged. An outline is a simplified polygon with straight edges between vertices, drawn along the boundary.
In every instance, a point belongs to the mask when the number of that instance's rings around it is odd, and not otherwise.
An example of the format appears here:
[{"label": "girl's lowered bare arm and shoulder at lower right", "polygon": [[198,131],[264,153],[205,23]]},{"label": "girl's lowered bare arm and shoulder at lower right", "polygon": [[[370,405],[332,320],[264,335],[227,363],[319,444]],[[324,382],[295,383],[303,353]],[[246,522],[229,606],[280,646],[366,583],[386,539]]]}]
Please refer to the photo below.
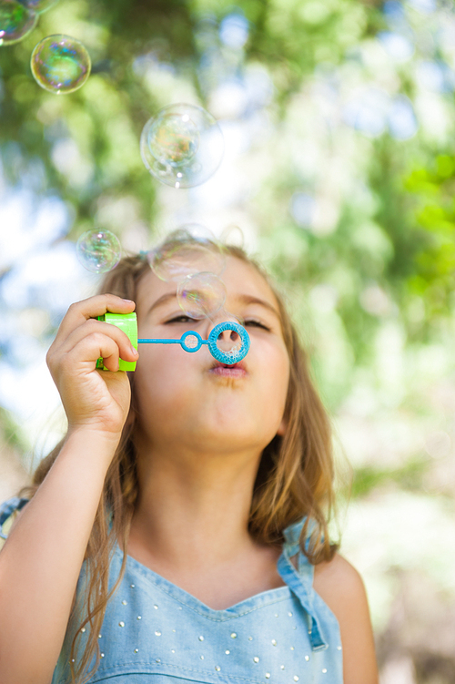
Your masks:
[{"label": "girl's lowered bare arm and shoulder at lower right", "polygon": [[314,588],[339,621],[344,684],[378,684],[365,587],[357,570],[335,554],[315,567]]}]

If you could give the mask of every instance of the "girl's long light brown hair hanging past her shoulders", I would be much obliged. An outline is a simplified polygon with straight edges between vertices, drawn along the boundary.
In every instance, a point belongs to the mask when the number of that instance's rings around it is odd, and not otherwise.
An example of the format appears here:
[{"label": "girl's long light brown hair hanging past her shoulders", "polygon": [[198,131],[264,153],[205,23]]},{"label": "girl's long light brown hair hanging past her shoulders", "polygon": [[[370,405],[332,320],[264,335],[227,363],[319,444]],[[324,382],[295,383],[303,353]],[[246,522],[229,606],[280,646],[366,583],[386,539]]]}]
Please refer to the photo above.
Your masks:
[{"label": "girl's long light brown hair hanging past her shoulders", "polygon": [[[181,236],[177,239],[181,242]],[[166,241],[172,247],[175,234]],[[191,240],[191,238],[187,238]],[[256,260],[238,247],[224,246],[227,256],[235,257],[255,268],[268,282],[278,301],[284,341],[290,361],[288,397],[285,407],[287,424],[284,436],[276,436],[264,449],[253,491],[249,516],[250,534],[259,542],[277,544],[283,540],[283,530],[306,516],[300,536],[300,547],[308,560],[316,565],[330,560],[337,548],[330,544],[328,522],[334,504],[333,456],[329,417],[319,399],[308,370],[308,358],[298,341],[298,334],[289,318],[283,298],[269,281],[267,273]],[[122,259],[108,273],[100,292],[136,300],[137,283],[149,271],[142,255]],[[115,593],[126,566],[127,540],[138,495],[136,454],[133,442],[135,428],[134,374],[132,403],[120,443],[107,471],[103,493],[86,548],[86,590],[76,596],[68,630],[74,634],[70,667],[74,684],[85,684],[96,672],[100,650],[98,633],[106,612],[106,604]],[[33,495],[45,479],[60,452],[62,443],[38,465],[33,485],[27,490]],[[109,523],[111,521],[111,524]],[[123,564],[114,587],[108,591],[108,570],[116,543],[123,551]],[[79,657],[78,638],[81,629],[89,628],[86,648]],[[69,631],[68,631],[69,633]],[[93,667],[89,668],[94,661]]]}]

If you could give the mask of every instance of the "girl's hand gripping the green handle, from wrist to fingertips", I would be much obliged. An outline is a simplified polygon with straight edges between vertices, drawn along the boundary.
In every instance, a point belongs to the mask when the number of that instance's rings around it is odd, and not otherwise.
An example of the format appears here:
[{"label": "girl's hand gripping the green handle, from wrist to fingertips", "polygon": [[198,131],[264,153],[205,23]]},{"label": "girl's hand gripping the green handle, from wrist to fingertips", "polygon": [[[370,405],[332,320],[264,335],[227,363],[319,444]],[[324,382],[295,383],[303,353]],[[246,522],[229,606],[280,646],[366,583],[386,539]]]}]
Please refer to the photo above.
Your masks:
[{"label": "girl's hand gripping the green handle, from wrist to fingertips", "polygon": [[[131,398],[127,375],[117,371],[119,357],[136,361],[125,332],[96,320],[106,311],[130,313],[134,301],[100,294],[72,304],[47,352],[46,361],[65,407],[68,431],[90,428],[118,437]],[[97,371],[103,357],[108,371]]]}]

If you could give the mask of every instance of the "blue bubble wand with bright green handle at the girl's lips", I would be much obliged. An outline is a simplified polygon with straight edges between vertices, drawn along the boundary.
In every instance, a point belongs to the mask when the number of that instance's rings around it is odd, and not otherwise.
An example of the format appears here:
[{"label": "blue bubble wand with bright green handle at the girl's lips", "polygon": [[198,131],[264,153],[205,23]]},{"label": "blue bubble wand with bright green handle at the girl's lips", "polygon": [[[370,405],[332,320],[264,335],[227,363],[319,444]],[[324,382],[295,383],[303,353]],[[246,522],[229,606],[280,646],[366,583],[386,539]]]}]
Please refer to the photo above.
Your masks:
[{"label": "blue bubble wand with bright green handle at the girl's lips", "polygon": [[[137,318],[136,313],[111,313],[106,312],[102,316],[98,316],[98,321],[103,321],[106,323],[111,323],[116,325],[117,328],[123,330],[126,333],[129,341],[135,349],[137,349],[137,344],[180,344],[185,352],[193,353],[198,352],[203,344],[207,344],[208,351],[212,356],[220,363],[226,363],[227,365],[233,365],[244,359],[249,351],[250,341],[248,332],[245,330],[243,325],[235,322],[221,322],[210,331],[207,340],[203,340],[198,332],[188,330],[184,332],[183,335],[178,340],[167,339],[167,338],[152,338],[152,339],[137,339]],[[217,346],[217,338],[222,332],[231,331],[237,332],[241,341],[240,348],[232,352],[223,352]],[[188,337],[196,338],[197,343],[194,346],[189,346],[187,343]],[[98,359],[96,362],[96,368],[106,371],[106,366],[103,363],[103,359]],[[123,359],[119,359],[118,362],[119,371],[135,371],[136,362],[126,362]]]}]

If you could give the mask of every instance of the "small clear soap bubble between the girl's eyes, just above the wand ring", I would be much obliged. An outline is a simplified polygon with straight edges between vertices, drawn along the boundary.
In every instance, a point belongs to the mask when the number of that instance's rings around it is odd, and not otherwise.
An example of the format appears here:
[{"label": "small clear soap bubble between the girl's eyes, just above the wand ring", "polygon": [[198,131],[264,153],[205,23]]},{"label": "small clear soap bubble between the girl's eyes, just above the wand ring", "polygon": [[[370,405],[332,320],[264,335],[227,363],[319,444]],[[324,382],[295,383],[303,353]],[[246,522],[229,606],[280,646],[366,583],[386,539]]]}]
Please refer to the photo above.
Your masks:
[{"label": "small clear soap bubble between the girl's eyes, just above the wand ring", "polygon": [[226,287],[215,273],[195,273],[178,283],[177,301],[190,318],[210,318],[225,303]]}]

